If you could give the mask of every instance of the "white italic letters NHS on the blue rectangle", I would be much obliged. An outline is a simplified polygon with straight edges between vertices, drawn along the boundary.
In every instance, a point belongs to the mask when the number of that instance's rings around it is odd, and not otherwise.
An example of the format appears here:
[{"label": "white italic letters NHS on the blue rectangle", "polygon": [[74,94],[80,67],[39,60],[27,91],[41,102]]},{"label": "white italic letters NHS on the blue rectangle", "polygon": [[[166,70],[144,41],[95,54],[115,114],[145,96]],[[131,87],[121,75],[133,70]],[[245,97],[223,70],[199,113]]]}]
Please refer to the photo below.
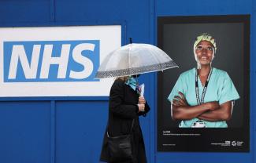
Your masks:
[{"label": "white italic letters NHS on the blue rectangle", "polygon": [[[43,46],[43,47],[42,47]],[[43,59],[41,64],[41,71],[39,74],[40,79],[46,79],[49,77],[50,65],[58,65],[57,78],[66,78],[67,68],[69,65],[69,53],[71,44],[61,45],[61,54],[58,57],[52,56],[54,44],[46,45],[33,45],[32,58],[29,63],[24,45],[13,45],[10,63],[8,79],[17,78],[17,67],[20,61],[22,70],[24,71],[24,77],[26,79],[35,79],[39,68],[39,56],[41,49],[43,48]],[[82,71],[70,70],[69,78],[83,79],[87,78],[93,72],[94,63],[87,57],[82,55],[84,50],[94,51],[95,44],[92,43],[80,43],[72,49],[72,59],[83,66]]]}]

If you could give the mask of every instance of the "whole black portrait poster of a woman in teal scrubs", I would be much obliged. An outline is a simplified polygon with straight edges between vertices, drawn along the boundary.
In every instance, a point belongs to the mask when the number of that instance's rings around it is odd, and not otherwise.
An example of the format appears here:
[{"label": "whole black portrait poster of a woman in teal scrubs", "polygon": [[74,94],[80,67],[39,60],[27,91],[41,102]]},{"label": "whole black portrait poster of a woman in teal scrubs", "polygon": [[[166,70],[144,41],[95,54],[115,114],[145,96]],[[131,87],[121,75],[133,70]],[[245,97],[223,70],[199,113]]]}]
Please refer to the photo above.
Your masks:
[{"label": "whole black portrait poster of a woman in teal scrubs", "polygon": [[[201,34],[210,34],[212,47],[195,43]],[[179,65],[158,72],[158,151],[249,152],[250,16],[158,17],[158,47]],[[203,92],[206,82],[196,82],[196,50],[214,50],[203,102],[217,103],[214,110],[198,107],[196,83]],[[172,107],[173,89],[184,94],[185,107]],[[202,92],[199,86],[199,100]]]}]

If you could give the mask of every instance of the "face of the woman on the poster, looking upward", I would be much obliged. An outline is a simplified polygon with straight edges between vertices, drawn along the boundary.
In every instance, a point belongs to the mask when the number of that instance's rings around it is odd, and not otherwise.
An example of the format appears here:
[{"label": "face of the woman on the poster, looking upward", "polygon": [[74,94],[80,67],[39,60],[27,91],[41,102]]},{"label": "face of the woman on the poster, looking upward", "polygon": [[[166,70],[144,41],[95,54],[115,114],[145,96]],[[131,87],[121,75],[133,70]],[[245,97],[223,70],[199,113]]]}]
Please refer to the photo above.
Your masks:
[{"label": "face of the woman on the poster, looking upward", "polygon": [[214,47],[212,43],[208,41],[201,41],[195,47],[195,57],[197,62],[203,65],[209,65],[214,56]]}]

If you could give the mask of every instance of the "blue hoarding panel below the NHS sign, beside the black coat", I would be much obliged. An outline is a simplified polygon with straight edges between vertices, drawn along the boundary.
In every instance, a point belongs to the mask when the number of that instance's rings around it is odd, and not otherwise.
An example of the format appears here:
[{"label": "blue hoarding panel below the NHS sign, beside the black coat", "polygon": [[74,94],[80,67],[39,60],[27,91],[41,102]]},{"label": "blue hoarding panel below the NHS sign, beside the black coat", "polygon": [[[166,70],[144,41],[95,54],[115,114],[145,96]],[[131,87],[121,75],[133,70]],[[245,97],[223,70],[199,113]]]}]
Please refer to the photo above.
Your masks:
[{"label": "blue hoarding panel below the NHS sign, beside the black coat", "polygon": [[107,115],[106,101],[56,102],[56,163],[98,162]]}]

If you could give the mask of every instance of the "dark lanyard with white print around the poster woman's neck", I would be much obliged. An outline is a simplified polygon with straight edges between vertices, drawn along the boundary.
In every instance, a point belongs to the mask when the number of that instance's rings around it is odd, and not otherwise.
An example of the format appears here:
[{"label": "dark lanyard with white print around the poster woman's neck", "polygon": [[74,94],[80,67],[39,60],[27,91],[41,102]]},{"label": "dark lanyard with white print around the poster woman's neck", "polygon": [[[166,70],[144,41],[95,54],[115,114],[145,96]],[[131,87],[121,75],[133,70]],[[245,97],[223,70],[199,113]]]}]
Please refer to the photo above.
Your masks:
[{"label": "dark lanyard with white print around the poster woman's neck", "polygon": [[206,96],[206,89],[207,89],[207,85],[210,81],[210,76],[212,74],[213,69],[210,69],[210,73],[208,74],[207,80],[206,80],[206,84],[204,85],[203,89],[202,89],[202,97],[201,97],[201,101],[199,99],[199,92],[198,92],[198,71],[197,69],[195,69],[195,95],[196,95],[196,100],[198,101],[198,105],[203,103],[203,100],[205,99]]}]

